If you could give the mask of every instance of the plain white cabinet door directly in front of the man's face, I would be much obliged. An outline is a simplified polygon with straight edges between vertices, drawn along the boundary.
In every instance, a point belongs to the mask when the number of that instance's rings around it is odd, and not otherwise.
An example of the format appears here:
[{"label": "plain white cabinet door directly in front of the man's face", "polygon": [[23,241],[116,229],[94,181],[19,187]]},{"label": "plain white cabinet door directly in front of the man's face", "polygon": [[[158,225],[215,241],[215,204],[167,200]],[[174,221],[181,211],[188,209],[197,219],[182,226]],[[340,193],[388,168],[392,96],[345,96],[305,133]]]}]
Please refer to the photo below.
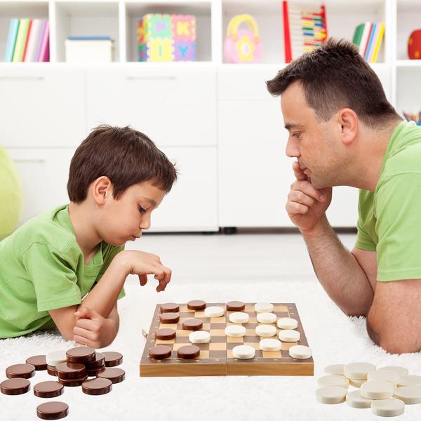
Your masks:
[{"label": "plain white cabinet door directly in front of the man's face", "polygon": [[293,171],[279,98],[220,101],[219,119],[220,226],[290,226]]}]

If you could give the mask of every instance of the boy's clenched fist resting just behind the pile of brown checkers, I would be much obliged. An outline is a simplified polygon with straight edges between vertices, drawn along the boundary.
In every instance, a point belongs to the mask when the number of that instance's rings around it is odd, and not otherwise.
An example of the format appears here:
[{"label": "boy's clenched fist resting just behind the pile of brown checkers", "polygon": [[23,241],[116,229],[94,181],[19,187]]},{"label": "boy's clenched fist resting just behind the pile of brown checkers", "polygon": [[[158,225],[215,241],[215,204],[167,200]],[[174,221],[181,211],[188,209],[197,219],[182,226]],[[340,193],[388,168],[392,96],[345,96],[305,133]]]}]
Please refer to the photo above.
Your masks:
[{"label": "boy's clenched fist resting just behind the pile of brown checkers", "polygon": [[117,334],[112,319],[105,319],[95,310],[80,307],[75,313],[76,324],[73,328],[73,340],[91,348],[103,348],[109,345]]}]

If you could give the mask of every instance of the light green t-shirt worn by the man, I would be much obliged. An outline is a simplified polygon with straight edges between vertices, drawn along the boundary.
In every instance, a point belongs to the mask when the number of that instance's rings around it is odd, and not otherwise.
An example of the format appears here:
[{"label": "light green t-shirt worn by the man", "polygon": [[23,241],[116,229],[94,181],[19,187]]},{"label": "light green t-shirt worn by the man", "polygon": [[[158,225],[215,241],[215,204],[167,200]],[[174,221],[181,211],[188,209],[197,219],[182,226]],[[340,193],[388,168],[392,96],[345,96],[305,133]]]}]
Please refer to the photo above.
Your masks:
[{"label": "light green t-shirt worn by the man", "polygon": [[402,121],[375,192],[360,190],[356,247],[377,252],[377,281],[421,278],[421,127]]}]

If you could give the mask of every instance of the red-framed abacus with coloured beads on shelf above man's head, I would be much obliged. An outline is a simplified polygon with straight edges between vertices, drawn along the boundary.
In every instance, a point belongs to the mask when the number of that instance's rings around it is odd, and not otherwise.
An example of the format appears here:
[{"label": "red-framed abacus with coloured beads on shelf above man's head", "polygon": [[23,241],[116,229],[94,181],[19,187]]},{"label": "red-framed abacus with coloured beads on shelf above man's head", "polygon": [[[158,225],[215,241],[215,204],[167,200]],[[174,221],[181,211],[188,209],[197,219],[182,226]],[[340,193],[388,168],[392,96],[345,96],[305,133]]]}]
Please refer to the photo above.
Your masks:
[{"label": "red-framed abacus with coloured beads on shelf above man's head", "polygon": [[328,38],[326,7],[283,1],[283,41],[285,43],[285,62],[300,57],[307,51],[321,46]]}]

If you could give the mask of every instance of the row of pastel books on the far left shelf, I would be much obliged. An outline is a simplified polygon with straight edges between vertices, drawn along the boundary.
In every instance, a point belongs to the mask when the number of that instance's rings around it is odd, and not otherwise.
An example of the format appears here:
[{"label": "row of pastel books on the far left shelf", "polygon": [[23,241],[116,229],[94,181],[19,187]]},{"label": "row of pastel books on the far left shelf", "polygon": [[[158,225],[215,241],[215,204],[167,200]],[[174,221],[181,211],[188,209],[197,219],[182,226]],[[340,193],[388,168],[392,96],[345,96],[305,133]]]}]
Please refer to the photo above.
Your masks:
[{"label": "row of pastel books on the far left shelf", "polygon": [[50,28],[47,19],[12,19],[5,62],[50,61]]}]

